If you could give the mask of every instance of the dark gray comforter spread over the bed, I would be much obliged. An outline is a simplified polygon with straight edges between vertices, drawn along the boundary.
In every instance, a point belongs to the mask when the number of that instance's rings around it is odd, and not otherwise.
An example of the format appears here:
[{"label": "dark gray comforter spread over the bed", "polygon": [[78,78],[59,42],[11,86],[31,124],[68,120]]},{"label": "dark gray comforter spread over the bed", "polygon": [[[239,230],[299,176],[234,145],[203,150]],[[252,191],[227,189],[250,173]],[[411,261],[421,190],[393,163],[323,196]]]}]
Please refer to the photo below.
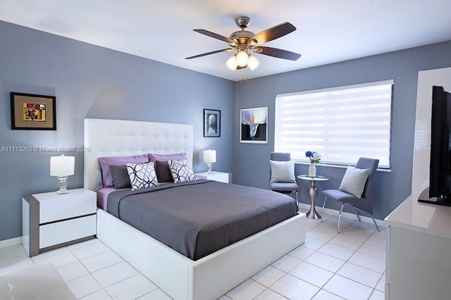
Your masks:
[{"label": "dark gray comforter spread over the bed", "polygon": [[194,261],[297,213],[290,196],[209,180],[115,191],[107,207]]}]

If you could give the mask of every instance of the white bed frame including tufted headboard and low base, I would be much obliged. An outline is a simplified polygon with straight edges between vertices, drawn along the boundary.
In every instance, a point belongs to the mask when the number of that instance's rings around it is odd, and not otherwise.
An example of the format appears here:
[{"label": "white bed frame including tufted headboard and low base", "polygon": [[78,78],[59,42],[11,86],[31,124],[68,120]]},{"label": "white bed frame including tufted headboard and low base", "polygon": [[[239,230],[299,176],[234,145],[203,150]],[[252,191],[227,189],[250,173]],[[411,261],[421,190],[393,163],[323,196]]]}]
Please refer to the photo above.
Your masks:
[{"label": "white bed frame including tufted headboard and low base", "polygon": [[[192,161],[192,125],[85,119],[85,187],[101,185],[101,156],[185,152]],[[90,150],[90,151],[89,151]],[[175,300],[218,299],[305,241],[299,213],[197,261],[99,209],[97,238]]]}]

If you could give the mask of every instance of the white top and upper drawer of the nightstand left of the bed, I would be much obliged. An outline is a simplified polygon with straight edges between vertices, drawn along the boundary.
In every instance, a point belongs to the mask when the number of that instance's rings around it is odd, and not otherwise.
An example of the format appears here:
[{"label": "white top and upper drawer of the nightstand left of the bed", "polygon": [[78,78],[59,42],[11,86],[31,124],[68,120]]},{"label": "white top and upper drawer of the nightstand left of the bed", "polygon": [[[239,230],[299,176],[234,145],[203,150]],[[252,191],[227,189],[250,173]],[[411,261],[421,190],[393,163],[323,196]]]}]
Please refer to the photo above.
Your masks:
[{"label": "white top and upper drawer of the nightstand left of the bed", "polygon": [[71,189],[69,194],[56,192],[34,194],[39,201],[39,224],[96,213],[96,194],[87,189]]}]

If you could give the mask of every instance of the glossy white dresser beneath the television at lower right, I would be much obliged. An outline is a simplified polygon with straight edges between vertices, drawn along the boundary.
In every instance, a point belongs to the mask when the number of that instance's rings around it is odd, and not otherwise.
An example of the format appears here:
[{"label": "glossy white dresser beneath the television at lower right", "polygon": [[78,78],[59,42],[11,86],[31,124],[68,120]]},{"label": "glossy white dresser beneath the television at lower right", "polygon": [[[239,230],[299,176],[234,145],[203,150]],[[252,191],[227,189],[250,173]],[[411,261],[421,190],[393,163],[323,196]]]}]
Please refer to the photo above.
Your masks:
[{"label": "glossy white dresser beneath the television at lower right", "polygon": [[385,299],[450,299],[451,207],[410,196],[385,225]]}]

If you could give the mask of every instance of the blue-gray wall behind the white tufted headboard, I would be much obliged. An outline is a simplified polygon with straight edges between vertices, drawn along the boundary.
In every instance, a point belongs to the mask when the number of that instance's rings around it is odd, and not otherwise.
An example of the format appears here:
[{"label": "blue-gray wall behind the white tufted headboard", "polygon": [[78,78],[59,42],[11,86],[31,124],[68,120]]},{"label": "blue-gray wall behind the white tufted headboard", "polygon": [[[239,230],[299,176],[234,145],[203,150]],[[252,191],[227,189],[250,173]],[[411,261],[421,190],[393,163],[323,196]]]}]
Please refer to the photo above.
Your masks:
[{"label": "blue-gray wall behind the white tufted headboard", "polygon": [[[0,22],[0,149],[82,146],[84,118],[189,123],[194,171],[216,149],[232,171],[235,82]],[[10,92],[56,96],[57,130],[11,130]],[[203,137],[203,109],[221,110],[221,137]],[[0,152],[0,241],[22,235],[21,198],[58,189],[45,152]],[[68,188],[83,185],[82,153]]]}]

